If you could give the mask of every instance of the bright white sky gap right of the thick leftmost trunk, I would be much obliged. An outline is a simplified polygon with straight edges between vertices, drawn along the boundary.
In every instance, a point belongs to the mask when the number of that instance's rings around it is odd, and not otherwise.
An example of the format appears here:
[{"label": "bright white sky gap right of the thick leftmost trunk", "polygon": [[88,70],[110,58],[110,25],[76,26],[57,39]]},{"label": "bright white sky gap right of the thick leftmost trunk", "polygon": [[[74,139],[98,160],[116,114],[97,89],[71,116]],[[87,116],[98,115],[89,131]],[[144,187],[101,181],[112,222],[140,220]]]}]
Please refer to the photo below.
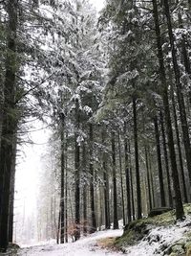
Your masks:
[{"label": "bright white sky gap right of the thick leftmost trunk", "polygon": [[16,212],[25,211],[26,215],[35,211],[38,178],[42,168],[41,157],[46,151],[50,136],[50,130],[43,127],[45,125],[41,122],[35,122],[32,130],[36,129],[36,131],[30,133],[30,138],[35,144],[26,144],[19,148],[21,156],[18,157],[16,166],[15,210]]}]

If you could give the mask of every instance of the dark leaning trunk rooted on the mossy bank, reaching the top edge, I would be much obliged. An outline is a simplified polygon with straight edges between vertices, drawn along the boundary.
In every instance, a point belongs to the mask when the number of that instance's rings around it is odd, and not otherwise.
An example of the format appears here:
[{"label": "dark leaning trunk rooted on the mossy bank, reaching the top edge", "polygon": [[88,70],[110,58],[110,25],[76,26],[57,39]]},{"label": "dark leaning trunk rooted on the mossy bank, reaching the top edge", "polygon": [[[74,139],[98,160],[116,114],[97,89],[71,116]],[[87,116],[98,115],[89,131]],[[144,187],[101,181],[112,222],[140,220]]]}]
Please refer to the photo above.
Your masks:
[{"label": "dark leaning trunk rooted on the mossy bank, reaching the top edge", "polygon": [[[166,2],[166,0],[164,2]],[[160,28],[159,28],[159,13],[158,13],[157,0],[153,0],[153,9],[154,9],[153,11],[154,11],[155,26],[156,26],[157,45],[158,45],[159,75],[160,75],[160,81],[162,84],[162,99],[163,99],[165,122],[166,122],[167,135],[168,135],[168,147],[169,147],[171,167],[172,167],[173,186],[175,191],[176,217],[177,219],[183,219],[184,212],[183,212],[183,206],[181,201],[180,179],[179,179],[179,173],[177,168],[177,159],[176,159],[176,153],[175,153],[175,147],[174,147],[173,130],[172,130],[170,107],[169,107],[169,101],[168,101],[168,89],[167,89],[168,85],[166,81],[163,53],[162,53],[162,47],[161,47],[162,44],[161,44],[161,36],[160,36]]]}]

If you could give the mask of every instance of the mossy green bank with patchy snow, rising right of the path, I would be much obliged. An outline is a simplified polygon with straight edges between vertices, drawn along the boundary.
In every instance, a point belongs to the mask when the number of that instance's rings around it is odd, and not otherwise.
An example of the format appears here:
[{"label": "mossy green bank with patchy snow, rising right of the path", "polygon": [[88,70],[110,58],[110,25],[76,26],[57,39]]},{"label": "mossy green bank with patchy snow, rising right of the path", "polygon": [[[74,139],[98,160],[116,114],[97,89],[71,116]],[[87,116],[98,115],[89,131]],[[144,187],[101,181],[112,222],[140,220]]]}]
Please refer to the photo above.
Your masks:
[{"label": "mossy green bank with patchy snow, rising right of the path", "polygon": [[185,221],[175,211],[131,222],[115,246],[129,256],[191,256],[191,204],[184,205]]}]

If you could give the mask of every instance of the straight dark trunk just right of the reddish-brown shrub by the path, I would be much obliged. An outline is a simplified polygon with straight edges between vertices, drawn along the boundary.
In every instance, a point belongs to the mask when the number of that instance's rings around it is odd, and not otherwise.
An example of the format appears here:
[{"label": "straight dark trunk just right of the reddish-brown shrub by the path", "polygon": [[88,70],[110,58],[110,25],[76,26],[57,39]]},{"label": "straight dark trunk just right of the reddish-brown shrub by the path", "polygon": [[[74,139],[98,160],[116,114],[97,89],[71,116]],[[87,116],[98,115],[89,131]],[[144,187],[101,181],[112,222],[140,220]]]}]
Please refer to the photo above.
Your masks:
[{"label": "straight dark trunk just right of the reddish-brown shrub by the path", "polygon": [[94,143],[94,135],[93,135],[93,124],[89,124],[89,135],[90,135],[90,202],[91,202],[91,221],[92,226],[90,229],[90,233],[96,232],[96,209],[95,209],[95,172],[94,172],[94,156],[93,156],[93,143]]}]

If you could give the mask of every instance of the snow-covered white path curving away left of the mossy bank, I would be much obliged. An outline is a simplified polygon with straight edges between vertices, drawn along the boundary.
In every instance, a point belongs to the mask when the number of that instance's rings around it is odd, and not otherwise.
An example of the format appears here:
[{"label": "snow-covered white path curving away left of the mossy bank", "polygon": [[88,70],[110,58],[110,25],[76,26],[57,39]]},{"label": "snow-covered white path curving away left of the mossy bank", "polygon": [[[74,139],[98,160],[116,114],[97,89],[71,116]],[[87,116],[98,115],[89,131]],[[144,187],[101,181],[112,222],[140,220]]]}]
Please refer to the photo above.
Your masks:
[{"label": "snow-covered white path curving away left of the mossy bank", "polygon": [[24,248],[18,256],[118,256],[118,252],[111,252],[96,246],[96,241],[107,237],[121,236],[121,230],[109,230],[81,239],[73,244],[40,245]]}]

